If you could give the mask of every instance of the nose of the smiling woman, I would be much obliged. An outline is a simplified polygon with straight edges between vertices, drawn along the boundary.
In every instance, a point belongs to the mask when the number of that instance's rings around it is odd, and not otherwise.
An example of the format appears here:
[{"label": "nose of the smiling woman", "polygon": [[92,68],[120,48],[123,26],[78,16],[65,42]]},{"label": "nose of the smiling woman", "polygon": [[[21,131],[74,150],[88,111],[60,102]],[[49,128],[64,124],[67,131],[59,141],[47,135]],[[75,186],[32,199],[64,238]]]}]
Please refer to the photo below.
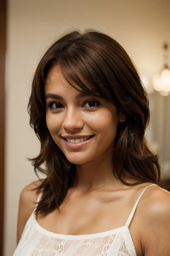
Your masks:
[{"label": "nose of the smiling woman", "polygon": [[75,128],[83,128],[84,122],[82,120],[82,116],[80,111],[76,108],[69,108],[64,111],[63,123],[62,127],[67,130],[73,130]]}]

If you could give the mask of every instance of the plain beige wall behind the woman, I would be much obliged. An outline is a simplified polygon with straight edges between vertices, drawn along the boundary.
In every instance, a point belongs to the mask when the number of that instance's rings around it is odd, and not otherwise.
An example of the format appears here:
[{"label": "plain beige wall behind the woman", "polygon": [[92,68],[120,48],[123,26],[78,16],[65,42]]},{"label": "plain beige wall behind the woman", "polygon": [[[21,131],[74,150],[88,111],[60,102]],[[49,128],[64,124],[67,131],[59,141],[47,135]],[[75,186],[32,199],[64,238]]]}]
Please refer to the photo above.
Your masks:
[{"label": "plain beige wall behind the woman", "polygon": [[[37,179],[26,160],[40,150],[40,143],[29,126],[27,104],[32,76],[44,50],[68,28],[98,29],[114,37],[150,81],[154,72],[161,69],[162,43],[170,42],[169,10],[168,0],[8,1],[4,256],[11,256],[16,247],[19,194]],[[156,98],[150,96],[151,118],[157,126],[152,137],[161,141],[163,97],[155,95]],[[170,108],[169,96],[167,104]]]}]

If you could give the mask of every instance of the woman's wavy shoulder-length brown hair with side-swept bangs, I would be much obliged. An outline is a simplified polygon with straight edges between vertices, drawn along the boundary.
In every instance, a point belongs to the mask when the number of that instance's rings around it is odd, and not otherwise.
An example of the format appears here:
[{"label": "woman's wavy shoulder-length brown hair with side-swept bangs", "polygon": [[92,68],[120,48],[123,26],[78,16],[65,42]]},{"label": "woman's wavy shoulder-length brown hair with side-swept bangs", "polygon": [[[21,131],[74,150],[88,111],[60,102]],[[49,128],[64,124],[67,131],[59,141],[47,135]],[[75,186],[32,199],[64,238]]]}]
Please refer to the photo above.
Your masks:
[{"label": "woman's wavy shoulder-length brown hair with side-swept bangs", "polygon": [[[65,80],[73,88],[104,98],[128,115],[126,122],[119,123],[115,139],[115,177],[129,186],[143,182],[162,186],[158,156],[150,151],[145,138],[149,101],[132,60],[107,34],[76,29],[62,35],[45,52],[32,82],[28,112],[30,125],[41,142],[41,151],[36,158],[28,160],[32,161],[37,176],[38,171],[47,175],[36,188],[37,193],[43,192],[36,214],[40,212],[45,216],[57,209],[67,190],[78,183],[75,164],[70,163],[54,143],[45,120],[44,84],[55,65],[60,66]],[[125,182],[123,174],[138,182]]]}]

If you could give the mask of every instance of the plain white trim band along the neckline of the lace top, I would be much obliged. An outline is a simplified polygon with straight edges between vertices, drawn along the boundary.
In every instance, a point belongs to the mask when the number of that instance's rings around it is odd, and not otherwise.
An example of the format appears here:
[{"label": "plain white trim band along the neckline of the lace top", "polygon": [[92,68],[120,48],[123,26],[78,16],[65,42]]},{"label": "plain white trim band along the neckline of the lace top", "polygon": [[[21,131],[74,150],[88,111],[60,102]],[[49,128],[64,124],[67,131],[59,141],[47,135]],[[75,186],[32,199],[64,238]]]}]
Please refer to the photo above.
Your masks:
[{"label": "plain white trim band along the neckline of the lace top", "polygon": [[111,230],[108,230],[108,231],[104,231],[104,232],[100,232],[100,233],[93,233],[93,234],[85,234],[85,235],[58,234],[58,233],[48,231],[48,230],[44,229],[42,226],[40,226],[40,224],[36,220],[35,214],[33,214],[33,226],[38,231],[40,231],[42,234],[44,234],[46,236],[59,238],[59,239],[66,239],[66,240],[81,240],[81,239],[98,238],[98,237],[104,237],[104,236],[109,236],[109,235],[114,235],[114,234],[122,234],[126,230],[128,230],[128,232],[129,232],[129,229],[128,229],[127,226],[122,226],[120,228],[111,229]]}]

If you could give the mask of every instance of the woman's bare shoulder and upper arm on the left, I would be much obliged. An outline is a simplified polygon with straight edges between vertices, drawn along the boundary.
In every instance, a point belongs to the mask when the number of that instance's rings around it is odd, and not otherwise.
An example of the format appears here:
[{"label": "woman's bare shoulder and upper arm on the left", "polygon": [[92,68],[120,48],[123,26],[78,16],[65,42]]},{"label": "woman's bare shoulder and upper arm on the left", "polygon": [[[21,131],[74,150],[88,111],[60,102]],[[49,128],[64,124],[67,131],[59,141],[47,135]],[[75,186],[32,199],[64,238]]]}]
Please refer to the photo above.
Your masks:
[{"label": "woman's bare shoulder and upper arm on the left", "polygon": [[20,193],[19,211],[18,211],[18,227],[17,227],[17,241],[19,242],[25,224],[31,216],[38,197],[37,188],[42,184],[42,180],[36,180],[28,184]]}]

